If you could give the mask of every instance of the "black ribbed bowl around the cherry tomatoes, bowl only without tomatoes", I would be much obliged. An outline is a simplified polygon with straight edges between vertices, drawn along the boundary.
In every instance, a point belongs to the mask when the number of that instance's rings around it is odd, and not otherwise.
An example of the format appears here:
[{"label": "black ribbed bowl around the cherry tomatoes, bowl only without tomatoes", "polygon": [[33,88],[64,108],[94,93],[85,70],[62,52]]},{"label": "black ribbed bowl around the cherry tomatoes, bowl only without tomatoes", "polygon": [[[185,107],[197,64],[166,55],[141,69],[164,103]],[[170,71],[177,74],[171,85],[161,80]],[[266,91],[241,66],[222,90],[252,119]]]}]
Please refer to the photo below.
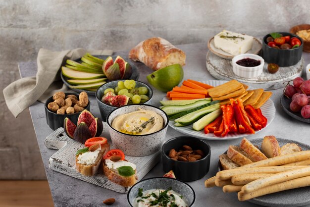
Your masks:
[{"label": "black ribbed bowl around the cherry tomatoes, bowl only without tomatoes", "polygon": [[302,45],[298,48],[290,49],[290,50],[281,50],[271,48],[267,45],[267,37],[270,37],[270,34],[266,35],[262,39],[262,58],[264,58],[267,63],[275,63],[279,66],[287,67],[291,65],[295,65],[302,58],[304,43],[303,40],[295,34],[288,32],[279,32],[283,36],[290,35],[291,37],[297,37]]}]

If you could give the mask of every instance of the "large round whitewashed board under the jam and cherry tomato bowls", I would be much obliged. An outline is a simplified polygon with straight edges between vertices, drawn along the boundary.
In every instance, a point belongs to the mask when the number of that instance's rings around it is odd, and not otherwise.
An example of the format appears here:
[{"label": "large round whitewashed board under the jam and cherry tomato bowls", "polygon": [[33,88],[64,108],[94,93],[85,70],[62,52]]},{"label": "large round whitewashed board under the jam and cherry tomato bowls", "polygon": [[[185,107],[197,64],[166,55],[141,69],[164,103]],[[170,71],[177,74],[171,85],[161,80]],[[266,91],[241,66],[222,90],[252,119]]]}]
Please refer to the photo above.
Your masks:
[{"label": "large round whitewashed board under the jam and cherry tomato bowls", "polygon": [[232,70],[232,60],[221,58],[212,52],[207,52],[207,70],[210,74],[219,80],[231,80],[249,84],[254,88],[264,90],[274,90],[284,88],[287,81],[296,77],[301,77],[304,68],[304,58],[296,64],[289,67],[279,67],[278,72],[271,74],[267,70],[268,63],[265,62],[262,74],[255,78],[242,78],[236,75]]}]

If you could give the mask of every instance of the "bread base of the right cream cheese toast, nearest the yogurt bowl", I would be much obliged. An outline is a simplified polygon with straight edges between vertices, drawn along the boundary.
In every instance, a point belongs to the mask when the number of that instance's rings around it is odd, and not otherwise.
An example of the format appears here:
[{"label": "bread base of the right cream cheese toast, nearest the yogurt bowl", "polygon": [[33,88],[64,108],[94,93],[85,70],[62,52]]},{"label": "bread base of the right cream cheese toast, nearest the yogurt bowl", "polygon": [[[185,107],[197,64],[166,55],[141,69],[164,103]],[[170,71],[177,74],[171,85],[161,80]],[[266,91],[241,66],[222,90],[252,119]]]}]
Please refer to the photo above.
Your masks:
[{"label": "bread base of the right cream cheese toast, nearest the yogurt bowl", "polygon": [[[136,172],[136,170],[135,170],[135,172]],[[112,181],[113,183],[117,183],[118,185],[121,185],[123,187],[133,186],[138,180],[136,174],[134,174],[132,176],[124,177],[124,176],[121,176],[118,173],[110,170],[104,164],[104,160],[103,160],[103,173],[110,181]]]}]

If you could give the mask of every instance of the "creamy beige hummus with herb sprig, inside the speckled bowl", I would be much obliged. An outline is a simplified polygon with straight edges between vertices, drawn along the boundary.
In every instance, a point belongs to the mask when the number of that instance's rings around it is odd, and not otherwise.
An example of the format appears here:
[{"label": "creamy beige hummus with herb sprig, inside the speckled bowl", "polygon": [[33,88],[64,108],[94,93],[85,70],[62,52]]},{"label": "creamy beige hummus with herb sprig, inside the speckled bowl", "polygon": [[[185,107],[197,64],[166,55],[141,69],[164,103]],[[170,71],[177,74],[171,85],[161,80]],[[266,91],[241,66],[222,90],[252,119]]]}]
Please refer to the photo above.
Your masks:
[{"label": "creamy beige hummus with herb sprig, inside the speckled bowl", "polygon": [[163,118],[154,111],[139,108],[137,111],[116,116],[111,125],[125,134],[151,134],[163,128]]}]

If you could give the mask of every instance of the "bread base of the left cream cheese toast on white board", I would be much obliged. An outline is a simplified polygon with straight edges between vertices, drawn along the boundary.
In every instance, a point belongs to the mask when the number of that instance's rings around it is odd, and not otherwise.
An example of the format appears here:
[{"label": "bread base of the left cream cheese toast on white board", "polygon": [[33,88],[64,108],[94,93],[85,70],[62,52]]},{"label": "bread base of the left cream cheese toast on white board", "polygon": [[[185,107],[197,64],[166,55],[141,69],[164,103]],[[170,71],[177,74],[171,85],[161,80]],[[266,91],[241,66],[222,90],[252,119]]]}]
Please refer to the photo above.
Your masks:
[{"label": "bread base of the left cream cheese toast on white board", "polygon": [[82,175],[86,175],[86,176],[94,176],[99,169],[99,166],[101,164],[101,160],[103,155],[109,151],[110,149],[110,145],[108,143],[102,145],[101,150],[96,158],[96,161],[94,164],[82,164],[82,163],[78,163],[78,156],[75,156],[75,165],[76,165],[76,169],[78,172],[80,172]]}]

